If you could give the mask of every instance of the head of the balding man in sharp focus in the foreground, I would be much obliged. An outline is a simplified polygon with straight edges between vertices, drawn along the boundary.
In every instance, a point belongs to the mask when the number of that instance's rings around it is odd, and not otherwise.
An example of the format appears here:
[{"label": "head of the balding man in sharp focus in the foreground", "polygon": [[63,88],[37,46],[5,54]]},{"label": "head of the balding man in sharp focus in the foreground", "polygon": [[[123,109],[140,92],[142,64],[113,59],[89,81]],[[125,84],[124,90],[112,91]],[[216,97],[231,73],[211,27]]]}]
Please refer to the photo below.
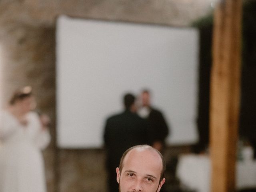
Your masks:
[{"label": "head of the balding man in sharp focus in the foreground", "polygon": [[129,148],[116,168],[119,192],[159,192],[164,172],[164,158],[158,150],[148,145]]}]

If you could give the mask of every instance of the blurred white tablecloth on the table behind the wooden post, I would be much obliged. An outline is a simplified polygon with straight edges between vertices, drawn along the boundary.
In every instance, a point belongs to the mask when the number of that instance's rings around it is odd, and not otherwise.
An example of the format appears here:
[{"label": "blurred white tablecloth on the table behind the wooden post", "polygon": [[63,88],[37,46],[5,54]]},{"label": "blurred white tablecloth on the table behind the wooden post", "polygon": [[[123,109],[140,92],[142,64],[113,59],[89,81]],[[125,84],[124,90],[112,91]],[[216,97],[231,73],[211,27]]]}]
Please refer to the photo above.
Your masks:
[{"label": "blurred white tablecloth on the table behind the wooden post", "polygon": [[[236,171],[237,189],[256,187],[256,161],[239,161]],[[210,192],[211,164],[208,156],[181,155],[176,174],[184,186],[197,192]]]}]

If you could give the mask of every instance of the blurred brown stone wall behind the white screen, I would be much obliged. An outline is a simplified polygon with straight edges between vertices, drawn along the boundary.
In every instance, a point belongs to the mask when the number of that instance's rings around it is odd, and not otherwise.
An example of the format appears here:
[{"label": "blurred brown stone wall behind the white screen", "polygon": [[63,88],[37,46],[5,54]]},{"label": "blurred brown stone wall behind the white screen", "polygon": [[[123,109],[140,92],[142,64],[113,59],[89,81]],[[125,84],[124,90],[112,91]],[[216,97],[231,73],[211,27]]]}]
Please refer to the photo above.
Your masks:
[{"label": "blurred brown stone wall behind the white screen", "polygon": [[[0,91],[4,106],[19,87],[32,85],[38,108],[50,115],[52,142],[44,151],[48,192],[104,192],[104,150],[56,148],[55,24],[78,18],[189,26],[208,14],[212,0],[1,0]],[[95,164],[97,162],[97,164]]]}]

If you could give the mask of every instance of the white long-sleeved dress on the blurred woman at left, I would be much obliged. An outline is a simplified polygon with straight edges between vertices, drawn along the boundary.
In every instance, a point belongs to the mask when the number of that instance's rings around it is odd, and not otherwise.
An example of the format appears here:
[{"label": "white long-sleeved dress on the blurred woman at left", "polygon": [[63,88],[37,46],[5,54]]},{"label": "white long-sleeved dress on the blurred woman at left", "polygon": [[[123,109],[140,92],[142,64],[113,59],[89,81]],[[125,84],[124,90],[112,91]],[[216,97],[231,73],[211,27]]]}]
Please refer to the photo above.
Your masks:
[{"label": "white long-sleeved dress on the blurred woman at left", "polygon": [[50,142],[35,112],[20,124],[7,111],[0,112],[0,192],[46,192],[41,150]]}]

